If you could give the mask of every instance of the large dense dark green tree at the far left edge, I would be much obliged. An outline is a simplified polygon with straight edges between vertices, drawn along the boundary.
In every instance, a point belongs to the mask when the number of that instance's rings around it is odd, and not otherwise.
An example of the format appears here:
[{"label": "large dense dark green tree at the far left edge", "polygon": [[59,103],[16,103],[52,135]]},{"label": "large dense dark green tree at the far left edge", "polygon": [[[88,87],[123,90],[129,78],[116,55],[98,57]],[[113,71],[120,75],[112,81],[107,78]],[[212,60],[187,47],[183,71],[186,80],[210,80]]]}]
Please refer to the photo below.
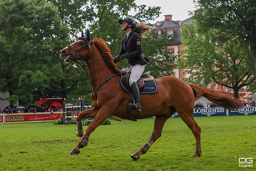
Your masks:
[{"label": "large dense dark green tree at the far left edge", "polygon": [[56,7],[34,0],[0,1],[0,25],[0,91],[10,93],[11,104],[34,102],[36,88],[49,83],[47,63],[66,44],[67,27]]}]

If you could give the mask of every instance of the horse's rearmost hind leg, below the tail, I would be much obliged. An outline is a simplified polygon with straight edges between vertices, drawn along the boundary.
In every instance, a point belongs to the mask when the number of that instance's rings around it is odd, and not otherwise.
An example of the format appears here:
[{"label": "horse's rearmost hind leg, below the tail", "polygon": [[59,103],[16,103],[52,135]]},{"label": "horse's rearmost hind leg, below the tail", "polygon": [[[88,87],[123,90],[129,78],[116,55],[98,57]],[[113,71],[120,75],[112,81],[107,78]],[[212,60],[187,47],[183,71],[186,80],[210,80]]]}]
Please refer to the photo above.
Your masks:
[{"label": "horse's rearmost hind leg, below the tail", "polygon": [[202,154],[201,145],[200,145],[201,129],[193,117],[193,112],[179,113],[179,115],[181,119],[187,124],[187,126],[189,127],[189,129],[192,131],[192,133],[196,138],[196,144],[197,144],[196,153],[192,157],[200,157]]}]

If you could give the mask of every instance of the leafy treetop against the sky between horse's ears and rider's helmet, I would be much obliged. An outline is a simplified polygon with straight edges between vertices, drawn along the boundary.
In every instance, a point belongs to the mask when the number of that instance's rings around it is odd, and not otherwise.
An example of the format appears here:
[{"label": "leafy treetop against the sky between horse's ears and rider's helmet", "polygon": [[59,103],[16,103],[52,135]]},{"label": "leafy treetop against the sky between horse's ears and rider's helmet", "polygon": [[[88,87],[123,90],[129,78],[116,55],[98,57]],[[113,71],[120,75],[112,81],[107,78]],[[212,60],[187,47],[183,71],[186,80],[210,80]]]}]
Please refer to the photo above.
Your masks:
[{"label": "leafy treetop against the sky between horse's ears and rider's helmet", "polygon": [[134,0],[90,0],[84,7],[85,14],[90,16],[90,31],[105,40],[114,57],[119,54],[121,40],[125,35],[118,20],[127,16],[131,10],[137,12],[133,17],[141,22],[158,17],[160,7],[146,8],[145,5],[136,5]]}]

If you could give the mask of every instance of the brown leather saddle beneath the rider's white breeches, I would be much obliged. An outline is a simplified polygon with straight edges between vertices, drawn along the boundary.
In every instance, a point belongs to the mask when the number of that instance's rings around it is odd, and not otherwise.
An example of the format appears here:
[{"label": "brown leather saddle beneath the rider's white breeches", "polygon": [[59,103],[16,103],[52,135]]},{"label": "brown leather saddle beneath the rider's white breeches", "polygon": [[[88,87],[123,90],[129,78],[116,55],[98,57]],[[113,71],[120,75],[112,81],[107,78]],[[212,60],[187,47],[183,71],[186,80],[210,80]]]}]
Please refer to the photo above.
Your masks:
[{"label": "brown leather saddle beneath the rider's white breeches", "polygon": [[[122,72],[126,73],[122,76],[123,82],[126,84],[127,87],[130,88],[129,78],[130,78],[130,75],[131,75],[131,71],[127,72],[126,69],[123,69]],[[139,89],[144,87],[144,81],[151,81],[151,80],[154,79],[154,77],[151,76],[150,73],[151,73],[150,71],[147,71],[145,74],[142,74],[140,76],[140,79],[137,81],[137,86],[138,86]]]}]

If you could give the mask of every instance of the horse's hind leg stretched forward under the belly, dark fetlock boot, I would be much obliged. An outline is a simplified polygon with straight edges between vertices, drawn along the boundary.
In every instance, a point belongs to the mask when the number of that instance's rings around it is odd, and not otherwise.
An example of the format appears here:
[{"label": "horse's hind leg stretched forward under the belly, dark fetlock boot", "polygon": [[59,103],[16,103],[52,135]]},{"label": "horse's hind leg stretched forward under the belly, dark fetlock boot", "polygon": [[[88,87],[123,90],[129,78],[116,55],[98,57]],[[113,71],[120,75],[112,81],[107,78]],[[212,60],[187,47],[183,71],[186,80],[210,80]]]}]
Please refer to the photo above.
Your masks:
[{"label": "horse's hind leg stretched forward under the belly, dark fetlock boot", "polygon": [[140,155],[145,154],[148,149],[151,147],[151,145],[162,135],[163,125],[165,121],[172,115],[160,115],[156,116],[155,122],[154,122],[154,130],[151,135],[150,140],[148,140],[138,152],[131,155],[131,157],[135,160],[138,160],[140,158]]}]

